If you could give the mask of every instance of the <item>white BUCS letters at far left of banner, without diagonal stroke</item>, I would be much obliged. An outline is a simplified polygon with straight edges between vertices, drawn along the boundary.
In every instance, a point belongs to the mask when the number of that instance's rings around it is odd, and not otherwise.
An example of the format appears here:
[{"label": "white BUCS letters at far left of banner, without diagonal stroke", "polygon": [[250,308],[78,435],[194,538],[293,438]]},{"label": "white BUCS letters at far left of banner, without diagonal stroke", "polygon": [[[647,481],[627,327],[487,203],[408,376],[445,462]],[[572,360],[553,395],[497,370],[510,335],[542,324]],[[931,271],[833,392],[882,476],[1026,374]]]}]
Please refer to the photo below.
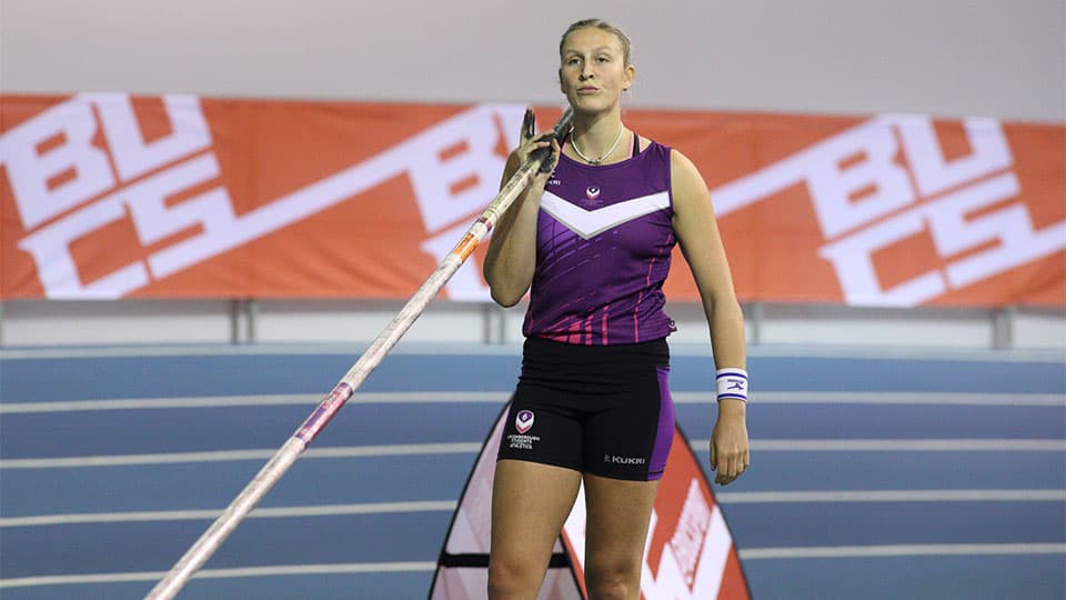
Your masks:
[{"label": "white BUCS letters at far left of banner, without diagonal stroke", "polygon": [[[234,217],[225,188],[217,184],[219,163],[205,151],[211,132],[199,102],[165,96],[162,106],[171,131],[150,142],[129,97],[102,93],[77,96],[0,139],[0,167],[29,232],[18,247],[37,263],[46,296],[118,298],[225,246]],[[98,134],[104,148],[93,144]],[[202,191],[169,203],[193,189]],[[198,233],[84,281],[71,246],[124,219],[144,248]]]}]

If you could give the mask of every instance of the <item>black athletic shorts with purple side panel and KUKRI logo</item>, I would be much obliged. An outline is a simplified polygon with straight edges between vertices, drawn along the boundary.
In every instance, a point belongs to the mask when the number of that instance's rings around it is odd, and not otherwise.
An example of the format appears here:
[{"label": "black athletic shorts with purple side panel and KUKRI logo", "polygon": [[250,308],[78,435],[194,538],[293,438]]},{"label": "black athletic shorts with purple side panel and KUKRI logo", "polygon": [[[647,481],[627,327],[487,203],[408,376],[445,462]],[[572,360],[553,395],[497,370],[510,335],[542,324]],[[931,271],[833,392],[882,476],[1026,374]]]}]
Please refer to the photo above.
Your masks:
[{"label": "black athletic shorts with purple side panel and KUKRI logo", "polygon": [[577,346],[527,338],[497,458],[660,479],[674,439],[668,373],[665,339]]}]

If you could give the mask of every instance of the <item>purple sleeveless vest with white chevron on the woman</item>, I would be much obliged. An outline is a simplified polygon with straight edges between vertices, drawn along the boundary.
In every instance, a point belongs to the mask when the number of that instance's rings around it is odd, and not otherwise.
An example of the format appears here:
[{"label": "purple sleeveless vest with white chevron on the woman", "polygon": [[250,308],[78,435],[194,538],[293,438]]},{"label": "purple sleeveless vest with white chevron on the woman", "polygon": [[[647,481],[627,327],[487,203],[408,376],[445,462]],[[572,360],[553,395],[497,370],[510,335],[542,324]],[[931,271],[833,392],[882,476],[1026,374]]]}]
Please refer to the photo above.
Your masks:
[{"label": "purple sleeveless vest with white chevron on the woman", "polygon": [[523,333],[607,346],[673,332],[663,311],[673,214],[670,148],[652,142],[600,167],[560,157],[541,199]]}]

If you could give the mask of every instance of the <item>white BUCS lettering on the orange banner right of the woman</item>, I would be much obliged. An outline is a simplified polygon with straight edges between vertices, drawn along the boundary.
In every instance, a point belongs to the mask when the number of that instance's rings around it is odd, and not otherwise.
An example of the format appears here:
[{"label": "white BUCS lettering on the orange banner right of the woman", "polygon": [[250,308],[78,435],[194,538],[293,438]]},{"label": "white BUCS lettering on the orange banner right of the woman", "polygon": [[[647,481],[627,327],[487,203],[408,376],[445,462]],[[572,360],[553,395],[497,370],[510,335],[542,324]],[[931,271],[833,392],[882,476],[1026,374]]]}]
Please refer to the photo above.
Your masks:
[{"label": "white BUCS lettering on the orange banner right of the woman", "polygon": [[[969,153],[946,159],[933,121],[884,116],[712,190],[718,214],[803,183],[849,304],[909,307],[1066,248],[1066,221],[1037,229],[994,119],[962,121]],[[896,160],[897,154],[904,162]],[[882,283],[874,254],[927,234],[946,267]]]}]

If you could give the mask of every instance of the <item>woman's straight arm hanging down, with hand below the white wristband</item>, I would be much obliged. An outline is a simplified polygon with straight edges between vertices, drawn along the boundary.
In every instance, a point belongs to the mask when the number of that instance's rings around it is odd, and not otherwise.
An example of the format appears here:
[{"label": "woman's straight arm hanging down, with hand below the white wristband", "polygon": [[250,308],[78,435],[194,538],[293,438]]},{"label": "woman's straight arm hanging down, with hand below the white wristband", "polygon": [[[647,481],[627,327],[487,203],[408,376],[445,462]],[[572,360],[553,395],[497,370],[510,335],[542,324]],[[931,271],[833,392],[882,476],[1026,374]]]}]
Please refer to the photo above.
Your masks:
[{"label": "woman's straight arm hanging down, with hand below the white wristband", "polygon": [[[681,152],[674,150],[670,162],[674,232],[703,300],[714,364],[717,369],[744,369],[744,316],[733,291],[711,194],[700,171]],[[746,409],[742,400],[718,402],[718,419],[711,436],[711,468],[717,471],[717,483],[730,483],[751,463]]]}]

